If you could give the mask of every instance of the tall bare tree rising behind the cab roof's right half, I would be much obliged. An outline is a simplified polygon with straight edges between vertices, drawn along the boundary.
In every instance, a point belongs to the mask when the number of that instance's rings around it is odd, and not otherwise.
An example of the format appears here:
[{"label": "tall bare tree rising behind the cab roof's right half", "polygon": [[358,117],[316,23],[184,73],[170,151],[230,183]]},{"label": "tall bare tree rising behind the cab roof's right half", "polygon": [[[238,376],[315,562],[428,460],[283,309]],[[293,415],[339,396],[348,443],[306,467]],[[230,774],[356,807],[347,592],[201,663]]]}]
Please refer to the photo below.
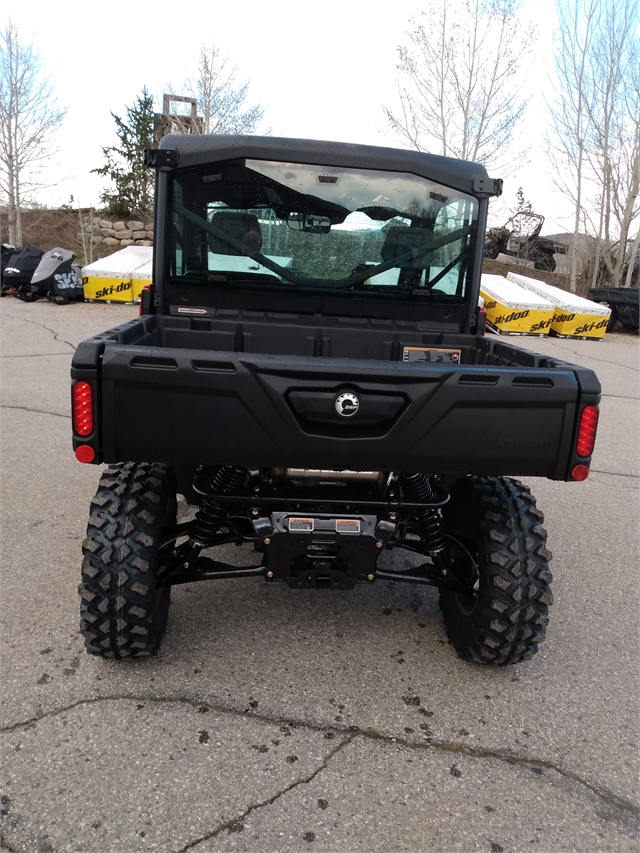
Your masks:
[{"label": "tall bare tree rising behind the cab roof's right half", "polygon": [[521,121],[522,69],[534,39],[517,0],[427,0],[398,46],[400,107],[383,107],[411,147],[497,168]]}]

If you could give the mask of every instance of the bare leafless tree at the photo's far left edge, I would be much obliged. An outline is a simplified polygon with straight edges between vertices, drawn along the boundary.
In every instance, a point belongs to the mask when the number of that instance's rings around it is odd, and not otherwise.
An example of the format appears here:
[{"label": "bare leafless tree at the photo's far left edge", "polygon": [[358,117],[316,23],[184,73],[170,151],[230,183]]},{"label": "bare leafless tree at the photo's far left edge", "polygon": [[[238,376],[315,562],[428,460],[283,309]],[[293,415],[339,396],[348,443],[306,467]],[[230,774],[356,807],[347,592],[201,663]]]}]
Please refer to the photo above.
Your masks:
[{"label": "bare leafless tree at the photo's far left edge", "polygon": [[0,33],[0,191],[8,209],[9,242],[22,242],[22,206],[45,186],[39,169],[50,157],[54,132],[64,119],[42,62],[20,42],[11,21]]}]

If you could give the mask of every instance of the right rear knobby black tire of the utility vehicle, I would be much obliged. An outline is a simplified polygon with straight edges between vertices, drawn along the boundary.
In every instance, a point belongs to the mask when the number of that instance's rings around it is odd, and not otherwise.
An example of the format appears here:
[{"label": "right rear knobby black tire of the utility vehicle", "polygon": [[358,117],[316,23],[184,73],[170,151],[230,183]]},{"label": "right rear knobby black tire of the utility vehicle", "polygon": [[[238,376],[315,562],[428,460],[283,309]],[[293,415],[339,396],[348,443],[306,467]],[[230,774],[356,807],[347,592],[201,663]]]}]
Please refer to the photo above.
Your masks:
[{"label": "right rear knobby black tire of the utility vehicle", "polygon": [[444,624],[463,660],[504,665],[538,651],[549,622],[551,554],[531,492],[506,477],[467,477],[451,490],[445,530],[473,562],[474,596],[442,591]]}]

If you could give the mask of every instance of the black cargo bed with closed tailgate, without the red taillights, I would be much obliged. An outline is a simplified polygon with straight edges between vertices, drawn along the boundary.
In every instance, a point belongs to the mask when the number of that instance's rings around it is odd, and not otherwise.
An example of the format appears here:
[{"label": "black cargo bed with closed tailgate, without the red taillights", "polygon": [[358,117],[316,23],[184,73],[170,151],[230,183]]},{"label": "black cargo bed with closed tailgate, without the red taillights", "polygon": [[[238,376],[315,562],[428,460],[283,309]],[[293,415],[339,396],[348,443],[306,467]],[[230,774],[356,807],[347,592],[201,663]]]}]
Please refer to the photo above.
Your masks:
[{"label": "black cargo bed with closed tailgate, without the red taillights", "polygon": [[[443,363],[406,363],[407,347]],[[591,371],[492,338],[247,311],[141,317],[82,343],[73,368],[100,383],[108,462],[564,479],[579,406],[600,390]],[[354,417],[336,415],[342,391]]]}]

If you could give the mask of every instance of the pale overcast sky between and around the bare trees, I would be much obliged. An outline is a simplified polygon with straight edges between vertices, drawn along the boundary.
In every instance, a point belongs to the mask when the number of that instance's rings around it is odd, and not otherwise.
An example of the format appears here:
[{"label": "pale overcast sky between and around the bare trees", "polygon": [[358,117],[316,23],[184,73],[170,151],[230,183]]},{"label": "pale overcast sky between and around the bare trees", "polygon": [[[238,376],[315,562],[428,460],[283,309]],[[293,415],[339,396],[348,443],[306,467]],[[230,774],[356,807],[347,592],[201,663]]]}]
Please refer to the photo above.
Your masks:
[{"label": "pale overcast sky between and around the bare trees", "polygon": [[[82,206],[98,204],[103,179],[90,170],[103,163],[101,147],[117,142],[110,113],[123,115],[143,86],[160,96],[171,85],[181,94],[183,81],[196,76],[202,43],[215,42],[239,79],[250,79],[247,104],[265,107],[263,128],[273,135],[402,145],[385,130],[382,104],[395,104],[396,46],[423,8],[419,0],[5,0],[3,8],[68,106],[50,165],[56,185],[41,193],[43,203],[73,195]],[[524,9],[539,29],[525,75],[534,95],[524,128],[531,162],[508,176],[505,199],[512,204],[522,186],[551,233],[567,226],[541,154],[553,3],[524,0]],[[492,218],[506,218],[504,206]]]}]

